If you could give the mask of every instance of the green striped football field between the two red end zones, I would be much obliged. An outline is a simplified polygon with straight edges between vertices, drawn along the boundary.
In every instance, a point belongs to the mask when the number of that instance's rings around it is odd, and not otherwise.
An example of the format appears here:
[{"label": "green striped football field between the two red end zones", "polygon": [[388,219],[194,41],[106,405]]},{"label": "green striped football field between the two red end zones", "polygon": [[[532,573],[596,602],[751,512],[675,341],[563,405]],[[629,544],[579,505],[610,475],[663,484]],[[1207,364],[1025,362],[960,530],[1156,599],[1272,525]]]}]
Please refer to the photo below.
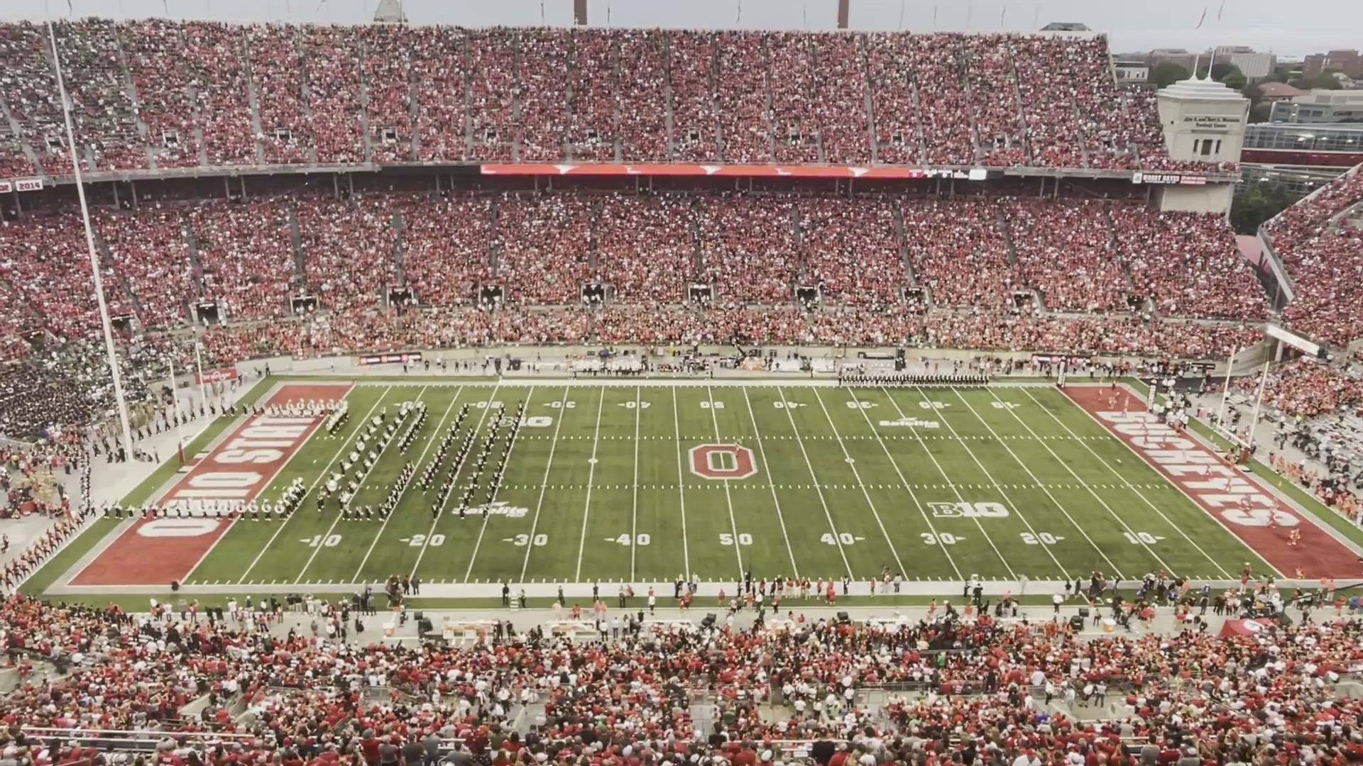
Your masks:
[{"label": "green striped football field between the two red end zones", "polygon": [[[413,484],[386,521],[318,512],[312,492],[369,416],[420,399],[414,444],[364,477],[378,506],[406,461],[417,476],[459,409],[481,443],[499,403],[526,402],[487,515],[455,512],[473,455],[439,515]],[[1164,570],[1235,579],[1270,568],[1212,515],[1044,386],[364,383],[335,436],[318,433],[264,492],[301,477],[286,521],[233,525],[187,585],[701,582],[797,575],[866,581],[1059,581]],[[508,439],[496,431],[489,469]],[[448,473],[454,447],[439,470]],[[353,472],[352,472],[353,473]],[[702,476],[709,473],[710,476]],[[725,478],[728,477],[728,478]],[[613,590],[607,590],[613,593]]]}]

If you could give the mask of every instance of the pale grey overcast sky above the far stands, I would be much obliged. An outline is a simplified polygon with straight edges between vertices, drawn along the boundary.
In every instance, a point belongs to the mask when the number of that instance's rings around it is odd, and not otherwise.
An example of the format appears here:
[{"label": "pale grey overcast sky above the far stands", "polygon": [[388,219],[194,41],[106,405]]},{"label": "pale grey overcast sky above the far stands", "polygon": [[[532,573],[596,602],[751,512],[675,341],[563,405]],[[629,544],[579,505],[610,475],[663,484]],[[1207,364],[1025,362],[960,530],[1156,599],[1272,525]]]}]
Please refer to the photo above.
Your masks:
[{"label": "pale grey overcast sky above the far stands", "polygon": [[[68,11],[68,4],[71,11]],[[234,22],[372,19],[378,0],[0,0],[0,18],[41,14]],[[572,22],[572,0],[405,0],[412,23]],[[833,29],[837,0],[589,0],[594,26]],[[541,16],[542,8],[542,16]],[[1204,12],[1206,19],[1198,29]],[[901,16],[902,14],[902,16]],[[609,18],[608,18],[609,16]],[[902,25],[901,25],[902,18]],[[852,0],[855,29],[1030,31],[1052,20],[1107,33],[1116,52],[1251,45],[1284,56],[1363,48],[1363,0]]]}]

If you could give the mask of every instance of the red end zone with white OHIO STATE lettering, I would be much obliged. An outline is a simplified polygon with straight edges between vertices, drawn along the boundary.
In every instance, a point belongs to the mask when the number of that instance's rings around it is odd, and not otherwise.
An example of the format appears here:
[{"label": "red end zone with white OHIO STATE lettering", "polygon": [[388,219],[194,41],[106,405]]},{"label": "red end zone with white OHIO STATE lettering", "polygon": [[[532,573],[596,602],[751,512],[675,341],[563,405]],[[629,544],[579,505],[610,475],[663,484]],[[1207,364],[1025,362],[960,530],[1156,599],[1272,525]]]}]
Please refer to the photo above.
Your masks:
[{"label": "red end zone with white OHIO STATE lettering", "polygon": [[[346,384],[289,383],[281,386],[269,403],[285,406],[331,401],[343,398],[349,391]],[[251,417],[184,474],[159,502],[251,500],[269,487],[322,421],[322,417]],[[230,525],[229,519],[215,518],[138,521],[70,585],[170,585],[172,581],[183,581]]]}]

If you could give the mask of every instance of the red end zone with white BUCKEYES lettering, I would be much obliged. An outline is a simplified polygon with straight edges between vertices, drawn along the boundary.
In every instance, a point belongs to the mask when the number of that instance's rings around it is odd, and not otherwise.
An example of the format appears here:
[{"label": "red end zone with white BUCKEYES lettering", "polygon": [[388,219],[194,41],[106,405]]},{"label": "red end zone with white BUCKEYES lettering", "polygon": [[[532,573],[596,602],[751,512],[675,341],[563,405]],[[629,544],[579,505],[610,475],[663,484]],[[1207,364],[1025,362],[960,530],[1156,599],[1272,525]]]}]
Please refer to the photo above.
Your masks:
[{"label": "red end zone with white BUCKEYES lettering", "polygon": [[[1109,409],[1114,393],[1129,399],[1127,412]],[[1284,577],[1359,577],[1363,566],[1352,551],[1201,442],[1160,423],[1138,397],[1090,386],[1070,387],[1065,394]],[[1296,545],[1288,545],[1292,530],[1302,534]]]}]

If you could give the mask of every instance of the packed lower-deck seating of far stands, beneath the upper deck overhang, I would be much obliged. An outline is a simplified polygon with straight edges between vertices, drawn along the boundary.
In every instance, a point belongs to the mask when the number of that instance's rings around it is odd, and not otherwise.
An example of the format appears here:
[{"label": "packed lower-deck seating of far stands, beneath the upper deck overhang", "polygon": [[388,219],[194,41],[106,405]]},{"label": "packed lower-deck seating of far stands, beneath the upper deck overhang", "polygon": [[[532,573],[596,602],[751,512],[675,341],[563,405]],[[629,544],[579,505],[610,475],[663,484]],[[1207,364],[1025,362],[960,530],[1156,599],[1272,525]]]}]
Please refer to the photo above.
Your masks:
[{"label": "packed lower-deck seating of far stands, beneath the upper deck overhang", "polygon": [[[503,305],[574,305],[593,284],[620,307],[793,305],[796,288],[811,286],[826,308],[912,312],[931,298],[1002,319],[1020,305],[1268,315],[1224,218],[1122,203],[394,194],[101,207],[93,224],[110,312],[146,330],[187,326],[198,304],[217,304],[228,320],[277,319],[293,312],[290,297],[308,294],[319,308],[356,315],[387,304],[390,289],[448,308],[496,286]],[[80,232],[65,211],[0,226],[7,337],[97,333]],[[694,285],[709,292],[692,294]]]}]

